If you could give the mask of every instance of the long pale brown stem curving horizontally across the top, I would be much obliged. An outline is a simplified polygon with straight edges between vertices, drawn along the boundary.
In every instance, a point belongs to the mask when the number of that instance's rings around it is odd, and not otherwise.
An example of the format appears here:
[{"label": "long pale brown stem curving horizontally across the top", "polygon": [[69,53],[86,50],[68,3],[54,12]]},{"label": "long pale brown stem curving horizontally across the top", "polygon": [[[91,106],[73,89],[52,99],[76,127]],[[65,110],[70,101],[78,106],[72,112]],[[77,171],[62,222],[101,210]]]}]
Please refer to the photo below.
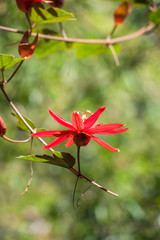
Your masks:
[{"label": "long pale brown stem curving horizontally across the top", "polygon": [[[147,32],[150,32],[153,30],[155,25],[153,23],[149,23],[147,26],[140,28],[138,31],[118,37],[118,38],[112,38],[110,40],[107,39],[81,39],[81,38],[64,38],[64,37],[57,37],[57,36],[50,36],[46,34],[39,34],[39,38],[44,38],[44,39],[50,39],[50,40],[58,40],[62,42],[72,42],[72,43],[87,43],[87,44],[115,44],[115,43],[120,43],[124,41],[128,41],[134,38],[137,38]],[[4,26],[0,26],[1,30],[5,30],[8,32],[14,32],[14,33],[20,33],[24,34],[24,31],[14,29],[14,28],[8,28]],[[37,33],[31,33],[32,36],[36,36]]]}]

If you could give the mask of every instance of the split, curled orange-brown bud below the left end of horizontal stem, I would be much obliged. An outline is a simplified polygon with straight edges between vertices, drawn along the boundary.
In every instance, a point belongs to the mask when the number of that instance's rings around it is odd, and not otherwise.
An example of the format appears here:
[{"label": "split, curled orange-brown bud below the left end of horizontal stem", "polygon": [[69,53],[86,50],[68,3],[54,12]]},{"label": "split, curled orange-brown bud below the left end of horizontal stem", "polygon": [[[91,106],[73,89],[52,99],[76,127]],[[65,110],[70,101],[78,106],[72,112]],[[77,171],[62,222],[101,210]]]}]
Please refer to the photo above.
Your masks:
[{"label": "split, curled orange-brown bud below the left end of horizontal stem", "polygon": [[34,50],[38,43],[38,33],[32,43],[29,43],[29,37],[30,37],[29,32],[28,31],[25,32],[23,35],[23,38],[19,44],[18,51],[19,51],[20,56],[23,58],[32,57]]}]

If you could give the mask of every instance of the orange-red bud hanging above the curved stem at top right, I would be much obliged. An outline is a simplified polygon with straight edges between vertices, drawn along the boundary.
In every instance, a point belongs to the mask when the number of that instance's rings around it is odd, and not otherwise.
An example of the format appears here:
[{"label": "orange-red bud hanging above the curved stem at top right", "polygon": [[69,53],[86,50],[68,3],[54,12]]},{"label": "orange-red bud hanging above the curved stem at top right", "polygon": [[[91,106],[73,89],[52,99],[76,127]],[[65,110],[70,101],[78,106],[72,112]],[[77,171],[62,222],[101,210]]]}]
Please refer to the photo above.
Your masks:
[{"label": "orange-red bud hanging above the curved stem at top right", "polygon": [[114,12],[115,25],[122,24],[126,17],[131,13],[133,7],[132,2],[122,2]]}]

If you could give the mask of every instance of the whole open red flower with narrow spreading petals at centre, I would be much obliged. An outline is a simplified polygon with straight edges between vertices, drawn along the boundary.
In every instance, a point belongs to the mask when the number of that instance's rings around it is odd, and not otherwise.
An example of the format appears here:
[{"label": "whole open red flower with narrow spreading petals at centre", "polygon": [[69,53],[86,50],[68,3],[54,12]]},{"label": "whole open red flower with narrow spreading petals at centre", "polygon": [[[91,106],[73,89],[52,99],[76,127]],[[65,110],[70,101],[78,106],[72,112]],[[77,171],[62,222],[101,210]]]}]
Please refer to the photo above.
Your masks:
[{"label": "whole open red flower with narrow spreading petals at centre", "polygon": [[[49,109],[51,116],[64,127],[69,128],[69,130],[51,130],[51,131],[42,131],[32,134],[34,137],[56,137],[51,143],[46,146],[43,146],[45,149],[52,148],[61,142],[65,141],[67,138],[66,146],[70,147],[75,143],[78,147],[86,146],[91,139],[100,144],[102,147],[107,148],[110,151],[118,152],[118,148],[113,148],[108,143],[103,140],[95,137],[95,134],[117,134],[127,131],[129,128],[118,129],[124,124],[103,124],[100,123],[95,125],[99,115],[105,110],[105,107],[100,107],[95,113],[93,113],[89,118],[86,118],[85,115],[80,117],[79,113],[74,111],[71,115],[71,122],[67,122],[62,117],[58,116]],[[88,114],[88,112],[86,113]]]}]

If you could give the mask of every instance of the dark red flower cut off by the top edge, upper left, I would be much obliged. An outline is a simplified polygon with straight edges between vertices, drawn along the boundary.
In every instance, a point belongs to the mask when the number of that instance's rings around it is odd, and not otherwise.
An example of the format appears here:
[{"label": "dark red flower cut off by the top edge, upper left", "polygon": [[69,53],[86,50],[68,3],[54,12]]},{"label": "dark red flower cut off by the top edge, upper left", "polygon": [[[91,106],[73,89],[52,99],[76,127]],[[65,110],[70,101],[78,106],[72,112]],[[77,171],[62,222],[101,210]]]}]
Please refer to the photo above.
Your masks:
[{"label": "dark red flower cut off by the top edge, upper left", "polygon": [[22,12],[28,12],[31,7],[37,3],[37,2],[42,2],[42,3],[51,3],[52,1],[45,1],[45,0],[16,0],[18,8]]}]

